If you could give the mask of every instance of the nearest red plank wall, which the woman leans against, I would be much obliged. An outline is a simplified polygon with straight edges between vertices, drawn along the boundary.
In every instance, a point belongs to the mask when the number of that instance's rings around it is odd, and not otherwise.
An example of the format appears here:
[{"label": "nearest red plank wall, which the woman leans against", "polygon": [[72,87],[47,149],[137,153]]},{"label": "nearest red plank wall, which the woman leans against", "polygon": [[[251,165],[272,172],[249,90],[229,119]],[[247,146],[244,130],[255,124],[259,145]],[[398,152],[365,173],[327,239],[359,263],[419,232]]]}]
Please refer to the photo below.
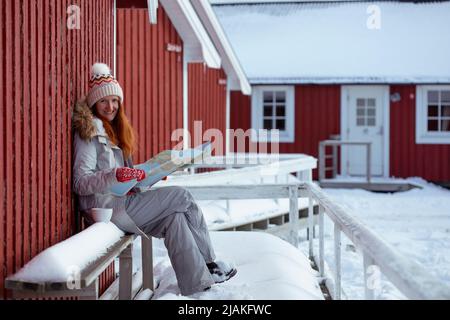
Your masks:
[{"label": "nearest red plank wall, which the woman leans against", "polygon": [[[81,29],[67,28],[67,8]],[[75,230],[71,111],[113,62],[112,0],[0,2],[0,298],[4,279]],[[114,280],[111,266],[100,289]]]}]

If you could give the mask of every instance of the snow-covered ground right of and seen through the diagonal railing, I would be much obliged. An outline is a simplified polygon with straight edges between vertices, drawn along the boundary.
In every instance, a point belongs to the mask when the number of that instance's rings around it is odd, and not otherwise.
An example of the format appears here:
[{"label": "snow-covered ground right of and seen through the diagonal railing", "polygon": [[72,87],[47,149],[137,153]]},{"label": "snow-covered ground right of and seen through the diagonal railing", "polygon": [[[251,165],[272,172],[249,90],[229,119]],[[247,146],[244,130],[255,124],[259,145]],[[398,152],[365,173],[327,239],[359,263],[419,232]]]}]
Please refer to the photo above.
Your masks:
[{"label": "snow-covered ground right of and seen through the diagonal railing", "polygon": [[[361,189],[325,189],[325,192],[381,238],[450,286],[450,191],[422,179],[407,180],[423,189],[397,193]],[[333,225],[329,219],[325,221],[325,260],[334,270]],[[345,236],[342,248],[344,294],[350,299],[363,299],[362,255]],[[302,242],[300,249],[307,253],[308,243]],[[317,246],[315,250],[318,252]],[[378,299],[404,298],[384,276],[376,295]]]}]

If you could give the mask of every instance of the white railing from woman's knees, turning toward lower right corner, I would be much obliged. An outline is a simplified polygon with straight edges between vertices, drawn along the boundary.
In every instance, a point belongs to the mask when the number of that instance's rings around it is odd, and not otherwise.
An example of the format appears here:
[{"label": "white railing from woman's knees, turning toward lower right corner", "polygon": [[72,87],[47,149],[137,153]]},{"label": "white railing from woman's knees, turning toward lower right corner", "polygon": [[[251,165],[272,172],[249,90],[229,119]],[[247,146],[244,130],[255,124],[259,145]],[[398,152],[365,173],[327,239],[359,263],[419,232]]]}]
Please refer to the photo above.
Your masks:
[{"label": "white railing from woman's knees, turning toward lower right corner", "polygon": [[[450,287],[443,284],[420,264],[403,256],[367,226],[352,217],[333,203],[323,191],[313,183],[288,183],[264,185],[184,185],[197,200],[227,199],[272,199],[289,198],[289,241],[298,245],[298,198],[309,199],[309,256],[319,268],[325,280],[324,217],[327,215],[334,223],[334,287],[328,288],[333,299],[341,299],[341,233],[363,252],[365,274],[365,297],[374,299],[374,289],[368,286],[368,269],[377,266],[381,273],[394,284],[400,292],[410,299],[450,299]],[[314,254],[313,204],[319,205],[319,255]]]}]

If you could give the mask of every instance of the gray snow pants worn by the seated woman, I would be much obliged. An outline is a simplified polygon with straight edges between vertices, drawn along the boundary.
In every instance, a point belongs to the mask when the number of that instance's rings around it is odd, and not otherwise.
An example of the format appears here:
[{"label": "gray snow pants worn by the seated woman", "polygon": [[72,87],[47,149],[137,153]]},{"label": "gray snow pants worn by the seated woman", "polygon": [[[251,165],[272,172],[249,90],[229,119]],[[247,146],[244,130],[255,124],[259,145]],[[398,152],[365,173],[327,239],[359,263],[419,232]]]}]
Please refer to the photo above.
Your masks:
[{"label": "gray snow pants worn by the seated woman", "polygon": [[166,187],[127,197],[126,211],[145,234],[164,238],[181,294],[214,284],[206,263],[215,260],[203,213],[186,189]]}]

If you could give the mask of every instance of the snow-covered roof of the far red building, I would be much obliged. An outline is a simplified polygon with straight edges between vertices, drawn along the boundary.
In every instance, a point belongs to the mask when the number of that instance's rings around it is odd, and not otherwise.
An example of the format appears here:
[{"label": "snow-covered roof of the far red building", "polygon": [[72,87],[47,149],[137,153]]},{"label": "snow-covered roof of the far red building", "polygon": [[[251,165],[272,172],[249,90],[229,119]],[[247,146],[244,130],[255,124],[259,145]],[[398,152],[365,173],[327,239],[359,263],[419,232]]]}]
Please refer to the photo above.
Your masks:
[{"label": "snow-covered roof of the far red building", "polygon": [[253,2],[214,6],[252,84],[450,82],[448,1]]}]

